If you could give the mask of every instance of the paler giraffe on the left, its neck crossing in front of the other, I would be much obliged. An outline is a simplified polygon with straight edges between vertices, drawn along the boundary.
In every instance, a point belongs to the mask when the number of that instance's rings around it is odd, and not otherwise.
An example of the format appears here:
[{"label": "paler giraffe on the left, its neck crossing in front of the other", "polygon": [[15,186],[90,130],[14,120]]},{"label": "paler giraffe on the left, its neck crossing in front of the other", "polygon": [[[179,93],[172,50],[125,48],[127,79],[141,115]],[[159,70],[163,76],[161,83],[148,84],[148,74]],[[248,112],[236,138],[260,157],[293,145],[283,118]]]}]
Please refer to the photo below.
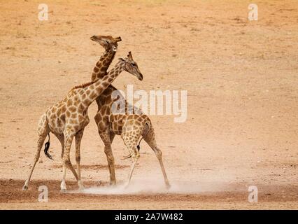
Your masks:
[{"label": "paler giraffe on the left, its neck crossing in front of the other", "polygon": [[[130,53],[129,53],[130,54]],[[90,122],[87,115],[87,109],[99,97],[99,95],[106,90],[106,88],[113,83],[113,80],[117,78],[122,71],[127,71],[136,76],[139,80],[143,80],[143,75],[138,66],[134,65],[130,59],[119,59],[119,62],[115,64],[114,68],[108,72],[106,76],[100,78],[96,82],[87,83],[73,87],[69,94],[61,101],[51,106],[41,116],[41,120],[38,124],[38,146],[36,155],[34,158],[34,165],[31,167],[29,178],[25,181],[23,190],[27,190],[31,174],[34,170],[36,162],[39,159],[41,153],[41,146],[45,137],[52,132],[59,139],[64,148],[63,153],[63,171],[61,190],[66,190],[66,168],[69,168],[78,181],[78,187],[83,188],[83,183],[80,176],[80,139],[83,137],[83,132]],[[78,167],[78,174],[71,165],[70,150],[73,137],[76,139],[76,162]],[[51,158],[48,154],[47,146],[45,146],[45,155]]]}]

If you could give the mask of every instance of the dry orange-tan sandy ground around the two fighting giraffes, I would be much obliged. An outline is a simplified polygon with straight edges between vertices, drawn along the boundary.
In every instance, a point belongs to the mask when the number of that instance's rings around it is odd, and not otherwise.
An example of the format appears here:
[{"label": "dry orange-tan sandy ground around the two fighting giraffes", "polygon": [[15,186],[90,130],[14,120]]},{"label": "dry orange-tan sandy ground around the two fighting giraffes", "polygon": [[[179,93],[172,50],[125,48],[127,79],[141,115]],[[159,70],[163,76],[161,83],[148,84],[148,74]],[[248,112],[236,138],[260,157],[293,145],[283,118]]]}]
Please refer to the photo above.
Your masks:
[{"label": "dry orange-tan sandy ground around the two fighting giraffes", "polygon": [[[297,1],[254,1],[253,22],[250,1],[47,1],[48,21],[38,20],[39,3],[0,1],[0,209],[298,209]],[[116,58],[131,50],[139,63],[144,80],[122,73],[118,89],[187,90],[185,123],[150,116],[169,191],[145,143],[130,190],[106,186],[95,104],[81,150],[85,192],[68,173],[69,193],[59,193],[54,136],[55,160],[41,155],[29,191],[21,191],[39,117],[90,80],[103,52],[94,34],[121,36]],[[122,160],[120,137],[113,153],[121,184],[130,161]],[[38,202],[41,185],[48,203]],[[257,203],[248,202],[248,186],[257,186]]]}]

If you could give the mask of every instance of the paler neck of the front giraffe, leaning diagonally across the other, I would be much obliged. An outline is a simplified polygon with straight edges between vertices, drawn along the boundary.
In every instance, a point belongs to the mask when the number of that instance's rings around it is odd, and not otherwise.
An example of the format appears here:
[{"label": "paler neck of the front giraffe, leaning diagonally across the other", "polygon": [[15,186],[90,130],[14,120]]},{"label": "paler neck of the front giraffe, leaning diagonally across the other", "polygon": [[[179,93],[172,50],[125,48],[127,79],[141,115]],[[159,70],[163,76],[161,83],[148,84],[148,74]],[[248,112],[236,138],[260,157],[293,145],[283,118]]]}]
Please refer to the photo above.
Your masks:
[{"label": "paler neck of the front giraffe, leaning diagonally across the other", "polygon": [[117,64],[115,64],[113,69],[108,71],[106,76],[99,78],[99,80],[97,80],[92,85],[85,87],[84,90],[85,90],[85,94],[87,94],[87,99],[88,99],[86,102],[87,106],[92,104],[92,102],[94,102],[94,100],[97,99],[97,97],[99,97],[101,93],[103,93],[104,90],[106,90],[108,86],[111,85],[111,83],[113,83],[115,78],[117,78],[120,75],[120,73],[124,70],[125,70],[125,62],[120,61]]}]

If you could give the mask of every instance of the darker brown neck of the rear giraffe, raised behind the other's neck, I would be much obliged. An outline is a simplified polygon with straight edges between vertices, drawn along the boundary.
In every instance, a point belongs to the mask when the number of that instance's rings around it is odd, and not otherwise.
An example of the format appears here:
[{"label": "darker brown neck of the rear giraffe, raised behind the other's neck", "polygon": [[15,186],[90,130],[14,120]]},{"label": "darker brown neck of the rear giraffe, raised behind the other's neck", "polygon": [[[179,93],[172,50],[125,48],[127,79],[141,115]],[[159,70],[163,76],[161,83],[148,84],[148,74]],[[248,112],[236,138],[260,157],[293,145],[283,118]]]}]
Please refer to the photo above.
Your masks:
[{"label": "darker brown neck of the rear giraffe, raised behind the other's neck", "polygon": [[108,66],[110,66],[114,57],[115,51],[113,51],[112,48],[106,50],[106,52],[104,52],[104,55],[101,55],[99,61],[93,69],[91,76],[92,82],[96,82],[97,80],[99,80],[99,78],[102,78],[106,75],[106,70],[108,69]]}]

